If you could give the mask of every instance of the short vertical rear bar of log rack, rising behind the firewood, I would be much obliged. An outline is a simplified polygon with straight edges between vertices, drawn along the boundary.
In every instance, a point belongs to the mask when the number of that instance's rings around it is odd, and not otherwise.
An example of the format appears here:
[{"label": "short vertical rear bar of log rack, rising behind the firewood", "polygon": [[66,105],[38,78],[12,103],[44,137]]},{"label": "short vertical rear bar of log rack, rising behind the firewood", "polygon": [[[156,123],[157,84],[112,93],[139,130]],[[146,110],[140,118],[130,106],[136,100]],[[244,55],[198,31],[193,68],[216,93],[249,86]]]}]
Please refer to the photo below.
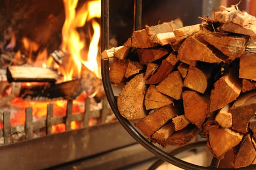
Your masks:
[{"label": "short vertical rear bar of log rack, rising behind the firewood", "polygon": [[133,30],[141,29],[141,19],[142,19],[142,0],[134,0],[134,23]]}]

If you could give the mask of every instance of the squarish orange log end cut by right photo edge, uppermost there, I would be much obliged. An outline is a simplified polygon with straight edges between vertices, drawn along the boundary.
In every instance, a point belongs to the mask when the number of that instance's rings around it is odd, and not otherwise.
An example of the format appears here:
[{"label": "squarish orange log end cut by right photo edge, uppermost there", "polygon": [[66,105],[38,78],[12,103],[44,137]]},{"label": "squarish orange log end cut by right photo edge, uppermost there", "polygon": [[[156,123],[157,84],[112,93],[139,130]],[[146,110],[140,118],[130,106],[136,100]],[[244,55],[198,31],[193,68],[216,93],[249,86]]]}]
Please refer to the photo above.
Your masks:
[{"label": "squarish orange log end cut by right photo edge, uppermost there", "polygon": [[256,80],[256,53],[244,53],[239,60],[239,78]]}]

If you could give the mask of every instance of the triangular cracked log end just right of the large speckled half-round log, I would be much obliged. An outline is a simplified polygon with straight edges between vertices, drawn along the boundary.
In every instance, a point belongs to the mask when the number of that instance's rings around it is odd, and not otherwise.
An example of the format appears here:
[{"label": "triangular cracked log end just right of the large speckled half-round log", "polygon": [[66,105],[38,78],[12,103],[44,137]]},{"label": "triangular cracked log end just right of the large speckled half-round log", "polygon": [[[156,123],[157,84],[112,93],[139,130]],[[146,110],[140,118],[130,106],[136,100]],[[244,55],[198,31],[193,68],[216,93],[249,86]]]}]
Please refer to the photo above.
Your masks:
[{"label": "triangular cracked log end just right of the large speckled half-round log", "polygon": [[173,99],[158,92],[154,85],[150,85],[145,95],[145,107],[147,110],[161,108],[173,103]]}]

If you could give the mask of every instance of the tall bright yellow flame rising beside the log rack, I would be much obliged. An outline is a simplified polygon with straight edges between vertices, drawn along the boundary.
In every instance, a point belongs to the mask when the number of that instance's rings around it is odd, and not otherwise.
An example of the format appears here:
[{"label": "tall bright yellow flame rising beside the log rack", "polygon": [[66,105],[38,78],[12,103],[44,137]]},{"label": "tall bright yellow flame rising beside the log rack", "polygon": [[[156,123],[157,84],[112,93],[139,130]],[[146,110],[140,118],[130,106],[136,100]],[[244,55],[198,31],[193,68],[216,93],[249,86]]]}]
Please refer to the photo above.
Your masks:
[{"label": "tall bright yellow flame rising beside the log rack", "polygon": [[[100,25],[94,18],[100,18],[100,1],[85,2],[79,10],[76,11],[78,0],[63,0],[65,5],[66,20],[62,27],[62,44],[61,50],[68,52],[70,55],[69,67],[62,70],[65,80],[80,77],[81,64],[95,72],[99,76],[97,55],[100,39]],[[81,36],[77,28],[85,26],[86,22],[92,22],[94,34],[91,39],[87,61],[82,54],[85,50],[86,39]],[[96,61],[96,62],[95,62]],[[75,66],[75,67],[74,67]]]}]

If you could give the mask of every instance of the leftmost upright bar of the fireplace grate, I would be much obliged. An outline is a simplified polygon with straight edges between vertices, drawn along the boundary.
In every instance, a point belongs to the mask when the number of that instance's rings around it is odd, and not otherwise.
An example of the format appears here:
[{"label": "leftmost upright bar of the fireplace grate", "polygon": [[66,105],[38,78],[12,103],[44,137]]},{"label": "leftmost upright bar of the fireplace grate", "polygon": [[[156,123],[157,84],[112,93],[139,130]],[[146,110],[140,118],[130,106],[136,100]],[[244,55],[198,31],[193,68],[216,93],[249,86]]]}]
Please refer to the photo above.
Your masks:
[{"label": "leftmost upright bar of the fireplace grate", "polygon": [[4,144],[11,143],[11,114],[10,111],[4,111]]}]

